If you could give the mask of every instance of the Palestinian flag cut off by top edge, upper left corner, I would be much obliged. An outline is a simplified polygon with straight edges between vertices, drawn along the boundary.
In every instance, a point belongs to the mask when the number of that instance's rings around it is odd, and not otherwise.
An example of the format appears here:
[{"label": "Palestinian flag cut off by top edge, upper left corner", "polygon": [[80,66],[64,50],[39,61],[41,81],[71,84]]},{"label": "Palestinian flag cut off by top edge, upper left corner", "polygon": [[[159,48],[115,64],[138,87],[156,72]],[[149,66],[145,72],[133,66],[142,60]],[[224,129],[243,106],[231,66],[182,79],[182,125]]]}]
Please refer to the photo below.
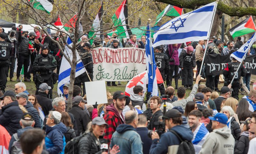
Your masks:
[{"label": "Palestinian flag cut off by top edge, upper left corner", "polygon": [[38,10],[43,10],[50,14],[52,11],[54,2],[53,0],[28,0],[30,3],[33,4],[33,7]]}]

